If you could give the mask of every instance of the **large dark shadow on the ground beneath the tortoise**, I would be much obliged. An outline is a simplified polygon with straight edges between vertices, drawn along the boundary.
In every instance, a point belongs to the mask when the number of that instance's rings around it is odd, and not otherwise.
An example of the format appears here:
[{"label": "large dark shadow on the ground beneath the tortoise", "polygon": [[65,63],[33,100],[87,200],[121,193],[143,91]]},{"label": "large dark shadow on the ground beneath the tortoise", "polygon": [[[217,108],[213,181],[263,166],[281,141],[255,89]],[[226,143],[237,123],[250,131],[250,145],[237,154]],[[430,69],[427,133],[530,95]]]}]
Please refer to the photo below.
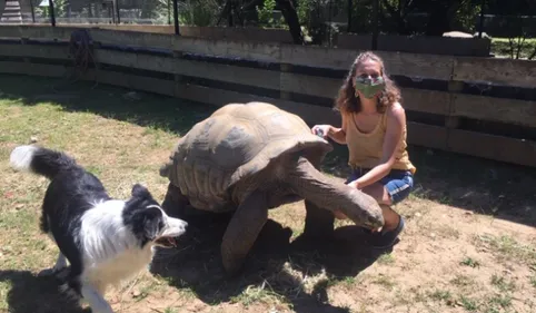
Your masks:
[{"label": "large dark shadow on the ground beneath the tortoise", "polygon": [[368,248],[351,226],[337,228],[336,237],[324,244],[300,237],[290,241],[291,229],[269,219],[242,272],[227,277],[221,266],[220,243],[228,221],[228,216],[189,219],[189,232],[180,238],[179,248],[157,253],[151,273],[179,290],[193,292],[210,305],[276,297],[295,312],[343,313],[349,311],[329,304],[327,287],[335,281],[356,276],[380,253],[390,251]]}]

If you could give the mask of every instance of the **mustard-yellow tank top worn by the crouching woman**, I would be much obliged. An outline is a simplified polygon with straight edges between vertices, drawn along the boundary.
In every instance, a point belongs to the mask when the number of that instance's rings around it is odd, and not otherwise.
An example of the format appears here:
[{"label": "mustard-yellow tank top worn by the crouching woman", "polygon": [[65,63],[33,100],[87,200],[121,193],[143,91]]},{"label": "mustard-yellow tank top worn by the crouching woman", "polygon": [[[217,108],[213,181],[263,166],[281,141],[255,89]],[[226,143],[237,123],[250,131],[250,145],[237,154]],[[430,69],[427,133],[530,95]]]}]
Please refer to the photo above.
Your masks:
[{"label": "mustard-yellow tank top worn by the crouching woman", "polygon": [[[348,165],[351,168],[373,168],[377,166],[381,159],[384,148],[384,138],[387,129],[387,113],[381,115],[379,123],[370,133],[361,133],[353,115],[348,116],[346,125],[346,143],[349,150]],[[396,159],[393,169],[409,170],[411,174],[417,172],[417,168],[409,160],[407,153],[407,127],[404,126],[400,143],[395,151]]]}]

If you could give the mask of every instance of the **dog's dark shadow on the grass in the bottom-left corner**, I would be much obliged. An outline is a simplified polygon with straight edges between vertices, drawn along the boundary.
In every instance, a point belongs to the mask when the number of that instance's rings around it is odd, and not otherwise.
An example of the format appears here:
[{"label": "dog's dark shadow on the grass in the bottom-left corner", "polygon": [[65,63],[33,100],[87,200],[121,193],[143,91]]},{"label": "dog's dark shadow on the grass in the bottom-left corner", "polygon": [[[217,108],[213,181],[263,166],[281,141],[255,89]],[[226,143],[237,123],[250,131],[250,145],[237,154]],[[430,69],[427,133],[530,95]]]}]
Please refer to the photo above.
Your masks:
[{"label": "dog's dark shadow on the grass in the bottom-left corner", "polygon": [[6,295],[10,313],[91,312],[61,295],[52,276],[39,277],[27,271],[0,271],[0,283],[10,285]]}]

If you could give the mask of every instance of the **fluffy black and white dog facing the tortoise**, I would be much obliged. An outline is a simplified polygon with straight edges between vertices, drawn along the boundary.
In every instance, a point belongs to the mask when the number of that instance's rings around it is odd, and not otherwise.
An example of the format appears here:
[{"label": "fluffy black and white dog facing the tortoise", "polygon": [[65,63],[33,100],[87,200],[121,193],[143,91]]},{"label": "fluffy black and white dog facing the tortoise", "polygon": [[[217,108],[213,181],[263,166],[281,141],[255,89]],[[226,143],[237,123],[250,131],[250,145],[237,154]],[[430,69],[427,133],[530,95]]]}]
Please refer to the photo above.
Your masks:
[{"label": "fluffy black and white dog facing the tortoise", "polygon": [[[50,179],[44,194],[41,231],[58,245],[56,265],[71,267],[63,291],[73,291],[95,313],[111,313],[103,295],[150,264],[153,247],[175,246],[187,223],[168,216],[143,186],[136,184],[127,200],[112,199],[101,182],[73,158],[39,146],[19,146],[11,167]],[[67,271],[66,271],[67,272]]]}]

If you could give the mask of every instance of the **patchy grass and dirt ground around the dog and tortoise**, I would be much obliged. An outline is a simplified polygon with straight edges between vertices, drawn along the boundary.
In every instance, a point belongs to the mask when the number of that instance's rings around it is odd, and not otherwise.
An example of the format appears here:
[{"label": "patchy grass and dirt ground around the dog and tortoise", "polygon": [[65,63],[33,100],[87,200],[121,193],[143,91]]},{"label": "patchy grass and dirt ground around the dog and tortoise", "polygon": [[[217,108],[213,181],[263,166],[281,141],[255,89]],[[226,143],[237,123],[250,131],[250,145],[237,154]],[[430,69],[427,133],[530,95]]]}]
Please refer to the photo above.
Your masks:
[{"label": "patchy grass and dirt ground around the dog and tortoise", "polygon": [[[37,274],[57,247],[39,233],[48,182],[9,168],[36,140],[62,149],[127,197],[142,183],[162,199],[158,168],[214,107],[62,80],[0,76],[0,312],[89,312]],[[403,90],[404,91],[404,90]],[[241,275],[224,275],[225,217],[192,221],[176,250],[106,297],[116,312],[536,312],[536,170],[410,147],[416,189],[396,206],[406,229],[368,248],[349,223],[307,243],[302,203],[270,212]],[[345,147],[324,170],[344,179]],[[85,311],[82,311],[85,310]]]}]

